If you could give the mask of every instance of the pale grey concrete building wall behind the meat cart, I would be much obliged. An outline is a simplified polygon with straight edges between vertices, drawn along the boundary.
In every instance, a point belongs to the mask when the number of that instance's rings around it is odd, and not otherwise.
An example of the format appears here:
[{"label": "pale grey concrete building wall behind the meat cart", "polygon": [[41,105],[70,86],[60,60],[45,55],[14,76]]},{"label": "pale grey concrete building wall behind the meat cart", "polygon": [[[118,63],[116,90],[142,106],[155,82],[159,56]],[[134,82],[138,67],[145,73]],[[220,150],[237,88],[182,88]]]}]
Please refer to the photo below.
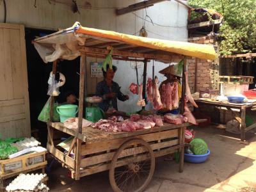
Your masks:
[{"label": "pale grey concrete building wall behind the meat cart", "polygon": [[[74,22],[79,21],[86,27],[138,35],[138,31],[143,26],[143,19],[141,18],[146,15],[145,10],[140,10],[134,12],[137,16],[134,15],[134,13],[127,13],[116,17],[115,7],[122,8],[129,4],[140,2],[134,0],[77,0],[81,15],[72,13],[71,7],[68,5],[70,0],[57,1],[61,3],[54,3],[54,0],[50,2],[51,4],[48,0],[37,0],[35,8],[34,0],[7,0],[6,22],[24,24],[26,27],[30,28],[58,29],[68,28],[72,26]],[[92,9],[81,8],[90,5]],[[100,10],[98,10],[98,8],[100,8]],[[188,30],[186,28],[188,10],[182,4],[176,1],[157,3],[147,8],[147,15],[154,22],[153,25],[148,17],[148,21],[145,21],[148,37],[188,41]],[[3,22],[3,20],[3,1],[0,0],[0,22]],[[88,61],[95,61],[95,59],[90,58]],[[113,64],[118,67],[115,81],[122,86],[122,92],[128,94],[131,98],[127,102],[119,102],[119,109],[122,111],[140,109],[136,106],[138,96],[132,95],[128,90],[129,84],[136,82],[136,73],[135,70],[131,68],[131,62],[114,61]],[[163,81],[163,75],[157,72],[168,65],[156,61],[155,65],[155,74],[159,76],[160,81]],[[141,67],[139,69],[140,82],[142,82],[142,72],[143,68]],[[147,74],[148,76],[152,76],[152,61],[148,64]],[[95,83],[93,83],[93,86],[95,86]],[[90,87],[90,90],[93,91],[93,87]]]}]

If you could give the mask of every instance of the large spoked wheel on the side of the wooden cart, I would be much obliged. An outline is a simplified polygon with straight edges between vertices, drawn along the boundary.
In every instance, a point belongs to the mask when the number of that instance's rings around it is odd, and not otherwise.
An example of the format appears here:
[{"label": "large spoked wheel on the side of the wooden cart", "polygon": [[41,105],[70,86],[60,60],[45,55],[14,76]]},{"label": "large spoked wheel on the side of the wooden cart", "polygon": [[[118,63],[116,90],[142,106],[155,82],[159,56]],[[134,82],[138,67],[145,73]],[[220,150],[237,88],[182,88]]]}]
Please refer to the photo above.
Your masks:
[{"label": "large spoked wheel on the side of the wooden cart", "polygon": [[143,191],[155,170],[155,156],[144,140],[126,141],[116,151],[109,168],[109,180],[115,192]]}]

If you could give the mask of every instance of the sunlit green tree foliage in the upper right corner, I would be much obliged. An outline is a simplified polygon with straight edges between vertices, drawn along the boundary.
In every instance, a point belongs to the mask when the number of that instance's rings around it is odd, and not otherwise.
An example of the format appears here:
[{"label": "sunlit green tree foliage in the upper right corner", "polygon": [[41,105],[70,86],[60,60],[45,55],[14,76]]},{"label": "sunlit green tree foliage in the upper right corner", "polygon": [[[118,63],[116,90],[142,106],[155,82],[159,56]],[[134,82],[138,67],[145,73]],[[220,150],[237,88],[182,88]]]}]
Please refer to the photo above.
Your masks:
[{"label": "sunlit green tree foliage in the upper right corner", "polygon": [[221,13],[220,53],[256,51],[256,0],[189,0],[194,8],[210,8]]}]

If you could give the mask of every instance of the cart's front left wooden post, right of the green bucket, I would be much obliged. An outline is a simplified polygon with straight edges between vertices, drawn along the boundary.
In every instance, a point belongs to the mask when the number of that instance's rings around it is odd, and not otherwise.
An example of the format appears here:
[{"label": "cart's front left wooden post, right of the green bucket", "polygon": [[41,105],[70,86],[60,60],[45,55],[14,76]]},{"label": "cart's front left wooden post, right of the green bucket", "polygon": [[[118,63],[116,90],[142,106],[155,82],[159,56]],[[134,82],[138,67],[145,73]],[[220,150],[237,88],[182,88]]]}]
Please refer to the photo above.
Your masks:
[{"label": "cart's front left wooden post, right of the green bucket", "polygon": [[[83,108],[84,108],[84,77],[86,74],[86,56],[81,52],[80,58],[80,83],[79,83],[79,106],[78,106],[78,134],[82,133],[83,124]],[[77,138],[76,145],[76,180],[80,179],[80,164],[81,164],[81,143]]]}]

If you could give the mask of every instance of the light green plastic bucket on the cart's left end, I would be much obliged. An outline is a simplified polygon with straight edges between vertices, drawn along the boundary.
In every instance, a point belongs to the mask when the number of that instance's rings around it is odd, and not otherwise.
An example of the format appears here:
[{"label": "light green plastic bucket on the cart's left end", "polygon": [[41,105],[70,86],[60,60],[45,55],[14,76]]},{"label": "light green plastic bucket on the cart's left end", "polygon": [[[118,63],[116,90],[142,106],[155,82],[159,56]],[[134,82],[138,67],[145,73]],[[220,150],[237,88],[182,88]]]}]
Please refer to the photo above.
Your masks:
[{"label": "light green plastic bucket on the cart's left end", "polygon": [[77,105],[67,104],[57,107],[57,112],[60,114],[60,122],[63,123],[66,119],[76,117],[78,111]]}]

